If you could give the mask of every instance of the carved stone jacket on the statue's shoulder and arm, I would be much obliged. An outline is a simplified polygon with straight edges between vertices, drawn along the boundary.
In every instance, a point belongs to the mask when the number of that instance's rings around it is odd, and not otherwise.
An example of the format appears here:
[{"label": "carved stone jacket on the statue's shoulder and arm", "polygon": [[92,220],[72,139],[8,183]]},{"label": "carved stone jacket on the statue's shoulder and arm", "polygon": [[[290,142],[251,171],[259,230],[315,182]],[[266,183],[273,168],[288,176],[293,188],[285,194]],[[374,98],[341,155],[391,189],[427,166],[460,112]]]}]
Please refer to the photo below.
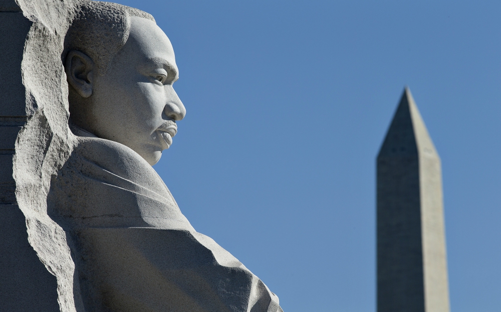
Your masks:
[{"label": "carved stone jacket on the statue's shoulder and arm", "polygon": [[87,312],[283,312],[256,275],[193,229],[139,154],[73,131],[48,213],[67,233]]}]

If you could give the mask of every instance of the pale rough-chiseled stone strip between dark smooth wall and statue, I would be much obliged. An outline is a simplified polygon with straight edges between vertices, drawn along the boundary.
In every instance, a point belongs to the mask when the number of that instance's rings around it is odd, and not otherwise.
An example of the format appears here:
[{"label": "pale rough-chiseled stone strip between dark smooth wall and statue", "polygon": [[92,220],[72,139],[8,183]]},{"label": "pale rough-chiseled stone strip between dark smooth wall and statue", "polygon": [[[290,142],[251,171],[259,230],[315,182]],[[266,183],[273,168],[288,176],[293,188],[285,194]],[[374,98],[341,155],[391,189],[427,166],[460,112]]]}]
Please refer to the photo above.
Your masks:
[{"label": "pale rough-chiseled stone strip between dark smooth wall and statue", "polygon": [[21,64],[29,118],[16,140],[13,162],[16,199],[26,217],[30,245],[57,277],[60,310],[83,312],[66,234],[47,215],[51,177],[66,162],[75,142],[68,128],[68,85],[61,53],[80,0],[17,0],[17,3],[33,25]]}]

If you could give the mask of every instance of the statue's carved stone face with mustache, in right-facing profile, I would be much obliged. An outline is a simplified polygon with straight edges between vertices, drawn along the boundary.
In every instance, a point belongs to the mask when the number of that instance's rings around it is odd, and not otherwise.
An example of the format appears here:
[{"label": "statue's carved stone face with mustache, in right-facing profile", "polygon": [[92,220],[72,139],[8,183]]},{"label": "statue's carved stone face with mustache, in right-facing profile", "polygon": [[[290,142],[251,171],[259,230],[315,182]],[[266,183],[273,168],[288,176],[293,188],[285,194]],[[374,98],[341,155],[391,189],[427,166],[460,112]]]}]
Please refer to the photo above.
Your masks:
[{"label": "statue's carved stone face with mustache, in right-facing profile", "polygon": [[88,130],[156,164],[172,144],[175,121],[186,114],[172,87],[179,75],[165,33],[150,20],[132,17],[127,43],[109,71],[93,77]]}]

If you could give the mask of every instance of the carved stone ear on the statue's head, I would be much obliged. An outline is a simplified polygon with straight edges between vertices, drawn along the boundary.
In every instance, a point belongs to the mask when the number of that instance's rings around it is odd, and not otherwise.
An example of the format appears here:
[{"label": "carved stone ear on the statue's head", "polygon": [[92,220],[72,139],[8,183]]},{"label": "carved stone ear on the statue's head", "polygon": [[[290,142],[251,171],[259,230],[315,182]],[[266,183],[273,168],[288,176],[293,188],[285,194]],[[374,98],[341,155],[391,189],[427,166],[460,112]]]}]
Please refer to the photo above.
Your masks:
[{"label": "carved stone ear on the statue's head", "polygon": [[90,57],[80,51],[70,51],[65,63],[66,79],[68,83],[82,97],[92,95],[92,82],[94,76],[94,62]]}]

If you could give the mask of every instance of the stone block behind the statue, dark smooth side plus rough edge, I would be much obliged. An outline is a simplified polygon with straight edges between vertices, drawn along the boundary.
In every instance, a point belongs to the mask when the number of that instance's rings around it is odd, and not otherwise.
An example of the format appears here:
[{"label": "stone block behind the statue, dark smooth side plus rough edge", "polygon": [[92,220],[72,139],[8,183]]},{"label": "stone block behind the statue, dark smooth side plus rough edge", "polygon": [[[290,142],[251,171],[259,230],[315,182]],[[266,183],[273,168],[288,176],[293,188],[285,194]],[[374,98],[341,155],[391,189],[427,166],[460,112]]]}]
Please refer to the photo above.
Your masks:
[{"label": "stone block behind the statue, dark smooth side plus rough edge", "polygon": [[83,311],[66,233],[47,216],[51,176],[71,152],[63,41],[72,0],[0,2],[0,306]]}]

